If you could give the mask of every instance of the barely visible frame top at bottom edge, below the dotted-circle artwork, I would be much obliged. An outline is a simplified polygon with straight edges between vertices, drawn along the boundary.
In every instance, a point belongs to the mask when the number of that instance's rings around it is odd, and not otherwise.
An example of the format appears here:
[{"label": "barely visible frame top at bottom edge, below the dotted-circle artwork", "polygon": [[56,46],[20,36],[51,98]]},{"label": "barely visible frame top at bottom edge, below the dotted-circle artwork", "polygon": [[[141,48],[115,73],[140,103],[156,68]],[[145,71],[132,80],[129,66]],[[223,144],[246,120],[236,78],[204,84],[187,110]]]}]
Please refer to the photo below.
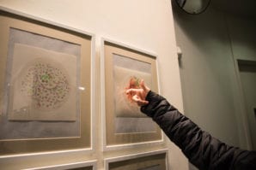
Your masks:
[{"label": "barely visible frame top at bottom edge, below the dotted-circle artwork", "polygon": [[55,166],[48,166],[48,167],[34,167],[29,168],[30,170],[64,170],[64,169],[70,169],[70,170],[96,170],[97,161],[81,161],[81,162],[75,162],[75,163],[69,163],[69,164],[62,164],[62,165],[55,165]]}]

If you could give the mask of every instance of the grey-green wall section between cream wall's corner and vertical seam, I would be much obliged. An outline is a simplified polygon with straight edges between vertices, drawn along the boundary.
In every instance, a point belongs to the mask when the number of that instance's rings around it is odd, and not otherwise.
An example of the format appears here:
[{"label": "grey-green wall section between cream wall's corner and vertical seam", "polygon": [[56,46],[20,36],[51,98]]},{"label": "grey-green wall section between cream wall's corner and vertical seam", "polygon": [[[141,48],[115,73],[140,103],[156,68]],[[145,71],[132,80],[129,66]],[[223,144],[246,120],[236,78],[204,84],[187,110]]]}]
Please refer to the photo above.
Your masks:
[{"label": "grey-green wall section between cream wall's corner and vertical seam", "polygon": [[177,45],[182,50],[185,114],[214,137],[239,146],[241,113],[235,108],[239,99],[224,14],[210,4],[204,13],[188,15],[174,1],[172,4]]}]

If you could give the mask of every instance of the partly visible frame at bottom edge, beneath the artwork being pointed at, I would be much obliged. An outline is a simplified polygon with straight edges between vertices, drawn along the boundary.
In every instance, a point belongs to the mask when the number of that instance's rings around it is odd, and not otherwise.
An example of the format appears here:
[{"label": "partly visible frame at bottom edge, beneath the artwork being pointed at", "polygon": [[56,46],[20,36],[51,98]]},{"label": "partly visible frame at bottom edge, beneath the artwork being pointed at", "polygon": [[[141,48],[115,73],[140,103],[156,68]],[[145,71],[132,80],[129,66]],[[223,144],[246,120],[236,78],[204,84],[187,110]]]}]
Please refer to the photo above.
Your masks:
[{"label": "partly visible frame at bottom edge, beneath the artwork being pointed at", "polygon": [[168,170],[168,150],[107,158],[106,170]]}]

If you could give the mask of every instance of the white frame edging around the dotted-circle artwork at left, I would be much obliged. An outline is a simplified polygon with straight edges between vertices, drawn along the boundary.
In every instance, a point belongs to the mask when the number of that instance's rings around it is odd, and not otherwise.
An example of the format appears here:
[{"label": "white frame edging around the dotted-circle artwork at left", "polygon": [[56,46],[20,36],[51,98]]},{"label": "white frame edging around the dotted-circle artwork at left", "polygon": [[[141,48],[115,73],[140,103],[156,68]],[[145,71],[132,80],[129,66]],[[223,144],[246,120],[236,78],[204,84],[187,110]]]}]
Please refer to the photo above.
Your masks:
[{"label": "white frame edging around the dotted-circle artwork at left", "polygon": [[[79,86],[78,90],[79,91],[89,91],[89,110],[88,110],[88,115],[90,117],[90,119],[88,119],[89,122],[89,130],[88,130],[88,145],[86,147],[83,146],[79,146],[79,147],[67,147],[67,148],[59,148],[59,149],[46,149],[46,150],[42,150],[42,149],[36,149],[36,147],[34,147],[35,149],[33,149],[32,151],[27,151],[27,150],[22,150],[20,151],[15,151],[12,150],[11,152],[3,152],[3,154],[0,154],[0,162],[3,161],[10,161],[13,160],[14,162],[19,160],[19,159],[24,159],[24,160],[29,160],[29,157],[31,156],[47,156],[47,155],[56,155],[56,156],[61,156],[64,155],[66,153],[72,153],[72,154],[84,154],[84,153],[91,153],[94,150],[94,113],[95,113],[95,35],[93,33],[90,32],[85,32],[79,29],[76,29],[75,27],[70,27],[70,26],[64,26],[62,24],[59,24],[55,21],[48,21],[46,19],[34,16],[34,15],[27,15],[25,13],[22,13],[20,11],[16,11],[14,9],[9,9],[9,8],[5,8],[0,6],[0,12],[1,14],[4,15],[9,15],[10,17],[18,17],[21,18],[24,21],[27,22],[31,22],[31,23],[35,23],[38,25],[43,25],[43,26],[52,26],[52,28],[56,28],[56,29],[60,29],[60,30],[64,30],[66,32],[75,32],[75,34],[77,35],[82,35],[82,36],[86,36],[89,38],[90,40],[90,53],[89,53],[89,57],[90,57],[90,62],[88,63],[89,65],[89,77],[90,79],[88,79],[88,85],[89,88],[86,89],[86,87],[84,86]],[[1,77],[2,78],[2,77]],[[3,87],[3,86],[1,86]],[[1,89],[2,91],[2,89]],[[1,92],[2,94],[2,92]],[[2,100],[0,100],[2,101]],[[3,109],[3,104],[1,103],[0,105],[0,109],[1,109],[1,114],[2,115],[2,109]],[[72,139],[72,138],[71,138]],[[17,143],[18,140],[1,140],[0,144],[2,143],[11,143],[11,144],[15,144]],[[21,143],[24,144],[24,139],[21,140]],[[58,143],[56,144],[56,146],[58,146]],[[24,147],[23,147],[24,148]]]}]

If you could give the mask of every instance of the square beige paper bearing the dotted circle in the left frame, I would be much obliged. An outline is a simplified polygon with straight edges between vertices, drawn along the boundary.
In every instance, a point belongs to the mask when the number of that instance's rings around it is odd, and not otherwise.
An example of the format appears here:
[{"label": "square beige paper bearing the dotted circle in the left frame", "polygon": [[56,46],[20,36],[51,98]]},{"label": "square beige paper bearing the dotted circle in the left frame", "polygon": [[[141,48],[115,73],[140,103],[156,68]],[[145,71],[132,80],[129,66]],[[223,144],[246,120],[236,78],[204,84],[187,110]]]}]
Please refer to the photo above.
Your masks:
[{"label": "square beige paper bearing the dotted circle in the left frame", "polygon": [[76,56],[15,44],[9,120],[76,120]]}]

